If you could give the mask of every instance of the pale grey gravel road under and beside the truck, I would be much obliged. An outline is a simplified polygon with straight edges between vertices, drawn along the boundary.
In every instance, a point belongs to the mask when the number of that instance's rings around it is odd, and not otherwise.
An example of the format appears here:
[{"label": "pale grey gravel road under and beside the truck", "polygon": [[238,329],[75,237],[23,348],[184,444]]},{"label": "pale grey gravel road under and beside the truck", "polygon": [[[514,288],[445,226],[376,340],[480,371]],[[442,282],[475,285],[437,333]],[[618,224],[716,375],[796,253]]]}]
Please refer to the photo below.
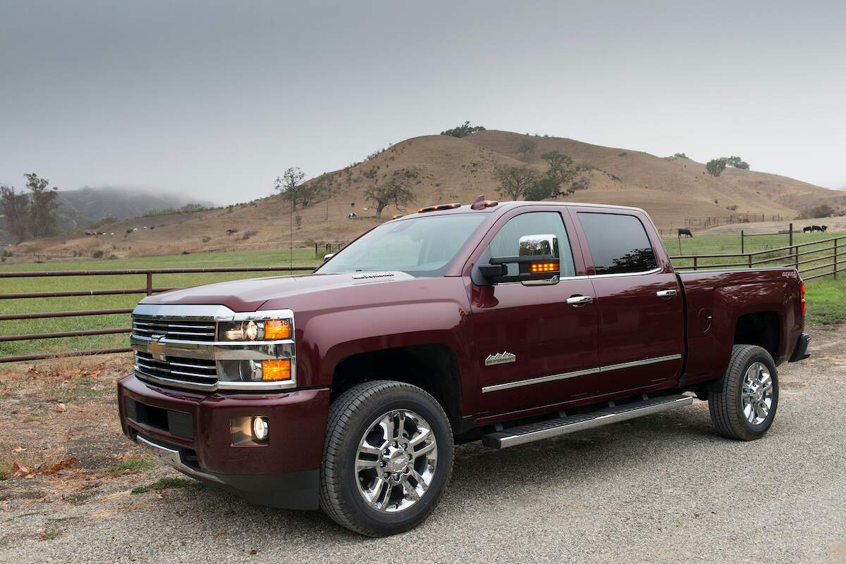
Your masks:
[{"label": "pale grey gravel road under and beside the truck", "polygon": [[846,562],[846,328],[811,334],[760,441],[718,437],[697,401],[501,452],[464,445],[432,517],[383,540],[211,488],[134,495],[118,480],[38,502],[21,490],[36,480],[13,478],[0,561]]}]

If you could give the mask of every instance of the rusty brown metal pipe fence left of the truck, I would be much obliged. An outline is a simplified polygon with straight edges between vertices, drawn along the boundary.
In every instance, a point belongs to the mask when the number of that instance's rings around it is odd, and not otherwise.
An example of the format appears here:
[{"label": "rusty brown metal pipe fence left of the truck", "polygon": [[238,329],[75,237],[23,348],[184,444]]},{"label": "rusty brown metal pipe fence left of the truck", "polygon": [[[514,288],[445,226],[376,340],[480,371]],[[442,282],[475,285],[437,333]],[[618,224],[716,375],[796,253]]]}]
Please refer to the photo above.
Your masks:
[{"label": "rusty brown metal pipe fence left of the truck", "polygon": [[[51,270],[32,272],[0,272],[0,279],[10,278],[51,278],[57,276],[146,276],[144,288],[120,288],[109,290],[62,290],[52,292],[14,292],[0,294],[2,300],[21,300],[26,298],[57,298],[72,296],[120,296],[146,295],[152,296],[168,290],[180,290],[179,287],[157,287],[153,284],[156,274],[208,274],[208,273],[242,273],[242,272],[303,272],[311,271],[314,266],[262,266],[262,267],[214,267],[214,268],[129,268],[118,270]],[[54,317],[87,317],[100,315],[118,315],[132,312],[131,308],[94,309],[68,312],[36,312],[11,313],[0,315],[0,321],[16,321],[31,319],[49,319]],[[79,331],[53,331],[51,333],[0,335],[0,343],[26,340],[63,339],[65,337],[85,337],[92,335],[108,335],[131,333],[131,328],[99,328],[83,329]],[[73,350],[66,352],[42,352],[35,355],[0,356],[0,363],[19,361],[39,361],[47,358],[61,358],[67,356],[107,355],[112,353],[129,352],[129,347],[111,349]]]}]

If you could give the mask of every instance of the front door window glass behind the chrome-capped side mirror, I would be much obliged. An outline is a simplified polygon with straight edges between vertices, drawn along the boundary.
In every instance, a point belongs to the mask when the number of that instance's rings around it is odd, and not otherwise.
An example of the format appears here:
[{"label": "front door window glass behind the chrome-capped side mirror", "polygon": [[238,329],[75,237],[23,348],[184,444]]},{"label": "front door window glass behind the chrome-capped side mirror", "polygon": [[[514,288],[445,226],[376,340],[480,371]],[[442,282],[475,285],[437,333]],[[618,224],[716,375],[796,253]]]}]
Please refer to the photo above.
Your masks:
[{"label": "front door window glass behind the chrome-capped side mirror", "polygon": [[[519,214],[517,217],[508,220],[497,235],[493,237],[491,244],[488,245],[485,255],[483,255],[485,261],[497,257],[518,257],[521,254],[520,237],[524,236],[556,237],[554,246],[548,251],[553,257],[558,257],[562,278],[575,276],[573,252],[570,250],[567,230],[564,229],[564,222],[558,212],[529,212],[528,214]],[[538,252],[538,254],[547,253],[548,246],[545,245],[544,247],[543,252]],[[523,254],[526,254],[525,249]],[[508,274],[517,274],[516,264],[508,265]]]}]

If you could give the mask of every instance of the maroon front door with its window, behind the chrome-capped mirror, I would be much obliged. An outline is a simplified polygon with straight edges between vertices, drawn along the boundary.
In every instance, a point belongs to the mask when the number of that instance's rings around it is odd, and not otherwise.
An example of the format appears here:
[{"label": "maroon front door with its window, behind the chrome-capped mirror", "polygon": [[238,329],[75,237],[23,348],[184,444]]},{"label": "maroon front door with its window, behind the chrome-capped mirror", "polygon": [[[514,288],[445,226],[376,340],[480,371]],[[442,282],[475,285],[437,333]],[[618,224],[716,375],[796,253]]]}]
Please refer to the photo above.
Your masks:
[{"label": "maroon front door with its window, behind the chrome-capped mirror", "polygon": [[[593,288],[569,236],[572,220],[561,208],[524,210],[505,214],[471,258],[470,320],[482,416],[561,403],[596,376],[596,304],[586,300]],[[519,255],[524,236],[557,238],[558,281],[486,285],[475,268],[491,258]],[[574,297],[583,300],[568,303]]]}]

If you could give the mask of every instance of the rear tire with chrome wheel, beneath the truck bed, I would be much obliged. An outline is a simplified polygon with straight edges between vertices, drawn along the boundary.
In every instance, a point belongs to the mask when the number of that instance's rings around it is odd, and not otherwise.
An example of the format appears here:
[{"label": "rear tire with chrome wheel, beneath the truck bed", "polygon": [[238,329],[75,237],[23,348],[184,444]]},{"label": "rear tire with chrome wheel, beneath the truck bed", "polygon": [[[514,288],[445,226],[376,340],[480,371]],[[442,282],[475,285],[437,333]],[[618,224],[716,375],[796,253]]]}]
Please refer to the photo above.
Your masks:
[{"label": "rear tire with chrome wheel, beneath the truck bed", "polygon": [[778,374],[772,356],[753,344],[735,344],[728,369],[708,394],[717,431],[723,437],[754,441],[770,428],[777,408]]}]

